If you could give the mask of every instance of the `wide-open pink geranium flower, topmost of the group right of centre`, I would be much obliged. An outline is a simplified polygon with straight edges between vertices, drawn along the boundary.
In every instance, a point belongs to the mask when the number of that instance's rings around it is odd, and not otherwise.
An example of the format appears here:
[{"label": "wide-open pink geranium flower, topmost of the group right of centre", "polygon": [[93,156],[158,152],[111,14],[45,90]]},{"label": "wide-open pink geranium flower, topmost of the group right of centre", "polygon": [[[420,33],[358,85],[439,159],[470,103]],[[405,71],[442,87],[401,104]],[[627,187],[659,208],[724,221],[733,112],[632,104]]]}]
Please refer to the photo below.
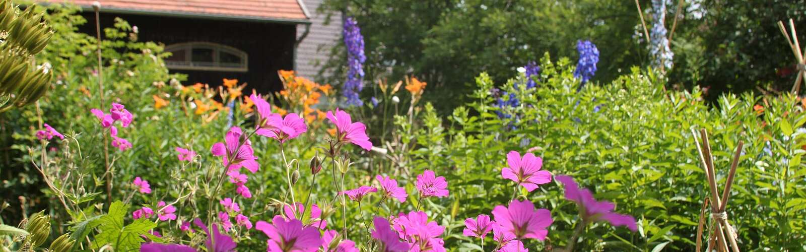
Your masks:
[{"label": "wide-open pink geranium flower, topmost of the group right of centre", "polygon": [[534,157],[533,153],[526,153],[521,158],[517,151],[510,151],[506,155],[506,162],[509,167],[501,170],[501,177],[526,187],[526,191],[534,191],[538,185],[551,182],[551,174],[540,170],[543,166],[542,158]]}]

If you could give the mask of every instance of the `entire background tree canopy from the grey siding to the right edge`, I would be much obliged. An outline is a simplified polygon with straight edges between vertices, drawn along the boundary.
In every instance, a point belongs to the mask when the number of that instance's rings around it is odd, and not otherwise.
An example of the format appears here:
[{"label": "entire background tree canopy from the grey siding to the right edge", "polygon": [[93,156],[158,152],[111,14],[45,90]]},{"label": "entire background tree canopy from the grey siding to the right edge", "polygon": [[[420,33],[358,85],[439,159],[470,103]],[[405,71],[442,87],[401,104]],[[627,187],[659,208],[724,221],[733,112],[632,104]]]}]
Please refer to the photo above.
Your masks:
[{"label": "entire background tree canopy from the grey siding to the right edge", "polygon": [[[667,2],[671,31],[680,2]],[[640,3],[651,29],[651,2]],[[676,57],[669,85],[710,86],[709,98],[755,86],[788,88],[795,75],[787,68],[794,69],[794,57],[775,22],[791,18],[806,27],[803,3],[683,1],[671,42]],[[612,81],[651,60],[632,0],[328,0],[320,11],[358,20],[368,57],[366,86],[413,74],[433,88],[426,99],[451,97],[438,103],[440,111],[467,99],[470,73],[484,71],[502,81],[544,52],[576,60],[577,40],[592,40],[601,52],[596,82]],[[345,57],[343,45],[333,48],[322,73],[335,74],[318,79],[343,82]],[[363,95],[374,92],[368,88]]]}]

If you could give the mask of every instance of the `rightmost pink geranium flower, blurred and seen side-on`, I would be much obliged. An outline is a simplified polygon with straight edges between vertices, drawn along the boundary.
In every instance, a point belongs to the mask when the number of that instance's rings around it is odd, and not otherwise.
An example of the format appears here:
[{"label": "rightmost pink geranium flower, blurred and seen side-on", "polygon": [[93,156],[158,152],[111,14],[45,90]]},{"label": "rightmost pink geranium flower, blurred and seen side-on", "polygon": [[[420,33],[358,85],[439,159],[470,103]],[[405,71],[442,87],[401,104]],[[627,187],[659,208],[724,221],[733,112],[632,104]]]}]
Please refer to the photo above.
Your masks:
[{"label": "rightmost pink geranium flower, blurred and seen side-on", "polygon": [[610,222],[611,225],[625,225],[629,230],[635,232],[638,225],[635,224],[633,216],[621,215],[613,212],[616,205],[607,201],[596,201],[591,191],[580,189],[574,178],[566,175],[559,175],[555,179],[565,185],[565,198],[575,202],[580,207],[580,212],[584,212],[582,219],[586,223],[593,223],[600,220]]}]

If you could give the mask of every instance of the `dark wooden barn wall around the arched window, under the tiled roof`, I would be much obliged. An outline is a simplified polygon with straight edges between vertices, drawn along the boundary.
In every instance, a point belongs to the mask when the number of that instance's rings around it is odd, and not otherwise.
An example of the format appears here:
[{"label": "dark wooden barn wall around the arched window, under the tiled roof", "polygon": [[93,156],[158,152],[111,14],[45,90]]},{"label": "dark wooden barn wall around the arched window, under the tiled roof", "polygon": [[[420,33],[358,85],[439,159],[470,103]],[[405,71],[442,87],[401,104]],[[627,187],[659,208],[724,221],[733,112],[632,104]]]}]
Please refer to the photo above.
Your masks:
[{"label": "dark wooden barn wall around the arched window, under the tiled roof", "polygon": [[[186,19],[152,15],[101,14],[101,26],[112,27],[114,18],[127,20],[139,29],[140,41],[155,41],[165,45],[185,42],[211,42],[238,48],[249,55],[249,70],[246,73],[171,70],[185,73],[185,85],[196,82],[220,86],[222,78],[237,78],[247,82],[244,94],[251,89],[261,94],[272,94],[282,88],[279,69],[293,69],[293,49],[297,27],[293,24],[238,22],[215,19]],[[95,35],[95,16],[85,13],[88,20],[82,32]]]}]

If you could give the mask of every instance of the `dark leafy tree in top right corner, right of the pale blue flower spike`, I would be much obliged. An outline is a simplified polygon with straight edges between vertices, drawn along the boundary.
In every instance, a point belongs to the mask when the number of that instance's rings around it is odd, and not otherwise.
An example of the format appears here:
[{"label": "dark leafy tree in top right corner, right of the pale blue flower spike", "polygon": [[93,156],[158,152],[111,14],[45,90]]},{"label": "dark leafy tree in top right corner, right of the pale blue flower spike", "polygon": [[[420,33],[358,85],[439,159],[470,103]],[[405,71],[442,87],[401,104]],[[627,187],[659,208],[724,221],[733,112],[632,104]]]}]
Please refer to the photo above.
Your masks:
[{"label": "dark leafy tree in top right corner, right of the pale blue flower spike", "polygon": [[678,57],[671,83],[708,86],[710,99],[756,86],[791,89],[795,57],[777,22],[793,19],[800,29],[799,40],[806,41],[804,1],[702,2],[699,8],[683,5],[683,19],[672,42]]}]

